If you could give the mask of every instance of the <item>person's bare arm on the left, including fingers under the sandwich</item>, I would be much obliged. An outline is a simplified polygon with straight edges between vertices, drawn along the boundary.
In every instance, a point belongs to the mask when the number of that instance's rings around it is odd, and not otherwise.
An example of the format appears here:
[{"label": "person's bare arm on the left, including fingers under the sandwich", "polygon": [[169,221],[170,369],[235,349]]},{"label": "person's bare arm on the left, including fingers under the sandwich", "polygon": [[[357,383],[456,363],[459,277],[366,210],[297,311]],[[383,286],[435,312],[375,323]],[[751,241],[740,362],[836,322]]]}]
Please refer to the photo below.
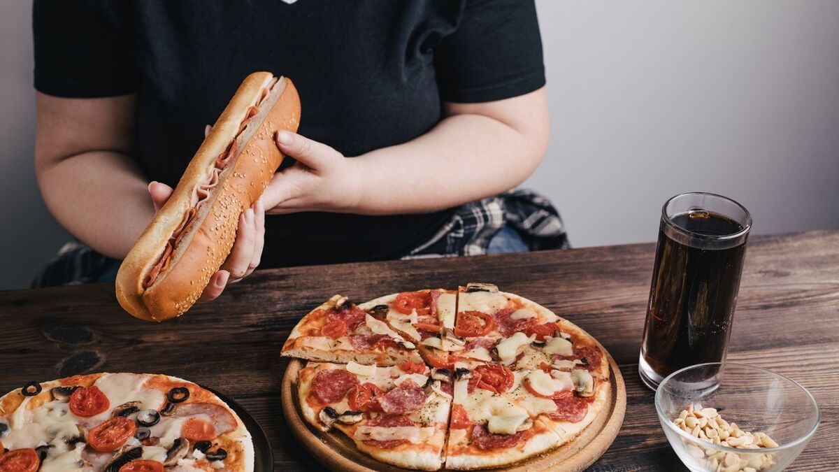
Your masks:
[{"label": "person's bare arm on the left, including fingers under the sandwich", "polygon": [[[134,96],[60,98],[36,92],[35,176],[55,219],[82,242],[122,259],[172,189],[143,176],[133,147]],[[150,194],[150,195],[149,195]],[[262,202],[242,212],[236,243],[201,301],[259,264],[264,238]]]}]

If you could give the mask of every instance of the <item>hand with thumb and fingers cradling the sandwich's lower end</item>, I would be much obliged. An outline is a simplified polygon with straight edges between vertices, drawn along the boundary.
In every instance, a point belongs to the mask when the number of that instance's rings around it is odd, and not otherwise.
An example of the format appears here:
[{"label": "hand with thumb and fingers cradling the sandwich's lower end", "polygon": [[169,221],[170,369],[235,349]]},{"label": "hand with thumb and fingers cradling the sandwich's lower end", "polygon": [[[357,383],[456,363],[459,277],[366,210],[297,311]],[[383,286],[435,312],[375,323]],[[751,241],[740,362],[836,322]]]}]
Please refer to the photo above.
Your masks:
[{"label": "hand with thumb and fingers cradling the sandwich's lower end", "polygon": [[[169,200],[172,187],[160,182],[152,182],[149,184],[149,195],[154,203],[154,211],[157,212]],[[233,248],[221,268],[210,277],[210,283],[207,284],[198,301],[209,302],[221,295],[221,291],[228,283],[236,283],[250,275],[259,265],[264,243],[265,207],[260,199],[242,212]]]}]

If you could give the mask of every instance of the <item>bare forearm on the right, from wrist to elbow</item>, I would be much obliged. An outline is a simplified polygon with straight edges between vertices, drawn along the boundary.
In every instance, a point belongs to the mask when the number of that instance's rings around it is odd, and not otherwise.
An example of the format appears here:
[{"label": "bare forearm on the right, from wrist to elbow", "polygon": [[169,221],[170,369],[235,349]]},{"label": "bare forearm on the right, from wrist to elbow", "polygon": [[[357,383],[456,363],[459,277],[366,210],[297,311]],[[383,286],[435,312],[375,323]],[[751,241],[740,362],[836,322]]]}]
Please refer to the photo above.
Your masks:
[{"label": "bare forearm on the right, from wrist to elbow", "polygon": [[493,118],[460,114],[429,133],[353,159],[362,176],[354,212],[431,212],[507,191],[539,165],[544,147]]}]

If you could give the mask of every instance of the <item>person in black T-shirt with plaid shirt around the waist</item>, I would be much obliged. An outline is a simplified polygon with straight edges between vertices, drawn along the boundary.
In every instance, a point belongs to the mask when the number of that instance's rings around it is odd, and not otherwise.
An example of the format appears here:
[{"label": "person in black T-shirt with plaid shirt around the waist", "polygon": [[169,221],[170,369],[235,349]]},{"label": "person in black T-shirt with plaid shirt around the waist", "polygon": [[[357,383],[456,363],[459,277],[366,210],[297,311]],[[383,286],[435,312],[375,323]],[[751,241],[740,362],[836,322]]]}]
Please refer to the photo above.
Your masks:
[{"label": "person in black T-shirt with plaid shirt around the waist", "polygon": [[[257,266],[562,248],[532,0],[34,1],[35,169],[78,242],[35,286],[108,281],[253,71],[300,92],[292,159],[202,300]],[[505,193],[506,192],[506,193]]]}]

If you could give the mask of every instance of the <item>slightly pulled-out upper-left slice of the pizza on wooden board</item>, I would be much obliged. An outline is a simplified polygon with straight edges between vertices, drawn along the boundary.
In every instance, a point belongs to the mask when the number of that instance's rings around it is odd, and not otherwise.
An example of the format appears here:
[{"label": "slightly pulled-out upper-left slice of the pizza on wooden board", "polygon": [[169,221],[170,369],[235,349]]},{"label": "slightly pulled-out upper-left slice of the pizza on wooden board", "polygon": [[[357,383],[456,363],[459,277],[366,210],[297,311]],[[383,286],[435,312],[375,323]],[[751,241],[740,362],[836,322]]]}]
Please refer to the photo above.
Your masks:
[{"label": "slightly pulled-out upper-left slice of the pizza on wooden board", "polygon": [[[396,296],[393,296],[395,302]],[[422,363],[416,344],[388,323],[387,304],[364,304],[367,311],[347,296],[332,296],[309,312],[291,331],[281,355],[322,362],[394,365]],[[397,312],[399,313],[399,312]],[[402,313],[399,313],[402,315]],[[410,316],[410,315],[408,315]],[[419,323],[417,315],[417,323]],[[420,331],[414,329],[421,338]]]}]

